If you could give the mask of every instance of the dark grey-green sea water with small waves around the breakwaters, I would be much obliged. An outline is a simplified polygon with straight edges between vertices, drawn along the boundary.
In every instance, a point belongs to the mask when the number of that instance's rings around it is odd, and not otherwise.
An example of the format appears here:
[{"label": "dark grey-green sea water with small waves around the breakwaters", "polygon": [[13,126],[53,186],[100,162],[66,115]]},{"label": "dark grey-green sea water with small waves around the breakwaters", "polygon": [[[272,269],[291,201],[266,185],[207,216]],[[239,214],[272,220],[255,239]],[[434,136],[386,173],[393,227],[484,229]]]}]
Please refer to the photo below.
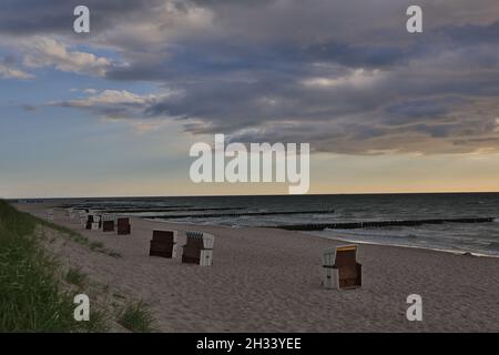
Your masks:
[{"label": "dark grey-green sea water with small waves around the breakwaters", "polygon": [[[80,200],[78,203],[82,204],[82,201]],[[144,211],[129,214],[146,219],[155,217],[159,221],[162,220],[159,216],[166,216],[164,221],[169,222],[222,224],[234,227],[354,221],[495,217],[496,221],[492,223],[444,223],[420,226],[325,230],[307,233],[323,237],[339,236],[356,242],[499,256],[499,193],[92,199],[83,202],[83,205],[98,209],[140,209]],[[334,213],[309,213],[309,211],[329,209],[334,209]],[[151,212],[151,210],[154,211]],[[299,213],[217,217],[193,215],[286,211]]]}]

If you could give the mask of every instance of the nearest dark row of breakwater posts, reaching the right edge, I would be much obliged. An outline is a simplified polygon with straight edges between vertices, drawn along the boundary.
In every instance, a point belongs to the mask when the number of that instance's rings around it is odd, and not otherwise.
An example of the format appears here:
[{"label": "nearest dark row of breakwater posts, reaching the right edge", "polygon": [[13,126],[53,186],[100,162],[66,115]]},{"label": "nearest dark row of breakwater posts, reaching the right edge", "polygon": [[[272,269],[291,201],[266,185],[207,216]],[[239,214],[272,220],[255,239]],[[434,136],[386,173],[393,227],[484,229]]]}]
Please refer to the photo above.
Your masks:
[{"label": "nearest dark row of breakwater posts, reaching the right edge", "polygon": [[367,222],[339,222],[339,223],[307,223],[307,224],[283,224],[275,229],[287,231],[324,231],[328,230],[355,230],[374,229],[384,226],[417,226],[422,224],[442,223],[489,223],[495,217],[469,217],[469,219],[434,219],[434,220],[401,220],[401,221],[367,221]]}]

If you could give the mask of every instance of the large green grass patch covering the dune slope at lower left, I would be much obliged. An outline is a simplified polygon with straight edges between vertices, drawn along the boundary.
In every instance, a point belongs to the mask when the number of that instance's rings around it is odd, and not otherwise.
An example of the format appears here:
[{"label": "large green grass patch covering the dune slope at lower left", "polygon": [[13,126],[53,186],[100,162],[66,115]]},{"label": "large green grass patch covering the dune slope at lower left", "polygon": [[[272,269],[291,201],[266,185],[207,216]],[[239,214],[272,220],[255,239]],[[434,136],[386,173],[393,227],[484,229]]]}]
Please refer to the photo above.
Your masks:
[{"label": "large green grass patch covering the dune slope at lower left", "polygon": [[62,290],[58,263],[34,237],[39,219],[0,200],[0,333],[100,332],[103,314],[73,318],[73,295]]}]

